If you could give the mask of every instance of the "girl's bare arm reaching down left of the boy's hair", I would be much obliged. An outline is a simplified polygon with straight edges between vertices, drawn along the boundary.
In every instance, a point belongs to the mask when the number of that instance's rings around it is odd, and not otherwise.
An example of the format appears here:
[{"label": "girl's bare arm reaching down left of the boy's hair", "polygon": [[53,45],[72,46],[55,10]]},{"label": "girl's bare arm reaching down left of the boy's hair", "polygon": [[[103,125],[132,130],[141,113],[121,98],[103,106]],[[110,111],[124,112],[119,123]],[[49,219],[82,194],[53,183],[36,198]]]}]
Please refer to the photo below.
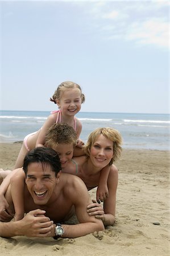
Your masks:
[{"label": "girl's bare arm reaching down left of the boy's hair", "polygon": [[44,146],[45,135],[47,134],[49,127],[51,127],[53,125],[53,123],[55,123],[55,122],[56,122],[56,114],[49,115],[49,117],[45,121],[44,125],[42,126],[42,129],[40,130],[35,147],[43,147]]}]

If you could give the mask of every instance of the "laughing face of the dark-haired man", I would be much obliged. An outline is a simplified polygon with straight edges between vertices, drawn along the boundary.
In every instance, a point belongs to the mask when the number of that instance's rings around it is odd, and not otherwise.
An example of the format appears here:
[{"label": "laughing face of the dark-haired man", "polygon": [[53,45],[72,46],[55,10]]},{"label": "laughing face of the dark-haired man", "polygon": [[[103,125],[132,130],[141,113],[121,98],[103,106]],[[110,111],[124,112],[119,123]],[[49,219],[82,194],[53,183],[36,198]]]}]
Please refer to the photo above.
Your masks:
[{"label": "laughing face of the dark-haired man", "polygon": [[44,205],[51,199],[56,183],[59,182],[60,172],[55,177],[49,164],[31,163],[28,165],[26,184],[35,204]]}]

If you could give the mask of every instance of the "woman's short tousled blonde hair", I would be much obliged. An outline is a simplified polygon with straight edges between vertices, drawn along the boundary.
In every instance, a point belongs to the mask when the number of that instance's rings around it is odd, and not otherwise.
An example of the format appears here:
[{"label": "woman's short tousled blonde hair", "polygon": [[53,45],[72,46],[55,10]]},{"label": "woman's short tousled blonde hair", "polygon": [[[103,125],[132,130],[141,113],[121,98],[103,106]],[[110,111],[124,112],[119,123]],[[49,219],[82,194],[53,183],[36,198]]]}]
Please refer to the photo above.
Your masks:
[{"label": "woman's short tousled blonde hair", "polygon": [[111,159],[109,165],[113,164],[113,162],[116,162],[119,157],[121,156],[122,152],[122,136],[119,133],[119,131],[111,128],[111,127],[103,127],[103,128],[97,128],[96,130],[92,131],[88,137],[88,141],[86,142],[84,148],[85,154],[90,157],[90,148],[93,146],[93,144],[97,141],[97,138],[99,135],[105,136],[107,139],[113,142],[113,158]]}]

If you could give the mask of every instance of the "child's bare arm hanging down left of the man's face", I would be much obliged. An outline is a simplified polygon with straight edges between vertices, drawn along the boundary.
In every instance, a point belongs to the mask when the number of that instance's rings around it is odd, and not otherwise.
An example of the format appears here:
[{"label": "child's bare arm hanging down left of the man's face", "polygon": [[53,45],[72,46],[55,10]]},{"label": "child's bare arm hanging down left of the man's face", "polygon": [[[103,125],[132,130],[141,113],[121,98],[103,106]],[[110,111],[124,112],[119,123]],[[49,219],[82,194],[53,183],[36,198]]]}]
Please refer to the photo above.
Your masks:
[{"label": "child's bare arm hanging down left of the man's face", "polygon": [[25,174],[23,171],[18,171],[11,177],[11,196],[15,208],[15,221],[21,220],[24,217],[24,181]]}]

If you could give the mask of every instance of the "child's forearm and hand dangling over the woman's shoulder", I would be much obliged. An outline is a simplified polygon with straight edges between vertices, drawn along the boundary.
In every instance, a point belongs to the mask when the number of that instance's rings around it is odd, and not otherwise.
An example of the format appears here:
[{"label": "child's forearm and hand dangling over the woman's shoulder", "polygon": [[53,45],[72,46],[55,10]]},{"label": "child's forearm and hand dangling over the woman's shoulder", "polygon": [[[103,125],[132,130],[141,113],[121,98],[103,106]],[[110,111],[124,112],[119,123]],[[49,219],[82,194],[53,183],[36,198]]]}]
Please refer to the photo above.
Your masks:
[{"label": "child's forearm and hand dangling over the woman's shoulder", "polygon": [[97,202],[100,203],[105,201],[106,198],[109,196],[109,190],[107,187],[107,179],[109,176],[109,172],[110,172],[110,166],[105,166],[101,172],[100,172],[100,176],[99,176],[99,183],[98,183],[98,188],[97,188],[97,192],[96,192],[96,199]]}]

